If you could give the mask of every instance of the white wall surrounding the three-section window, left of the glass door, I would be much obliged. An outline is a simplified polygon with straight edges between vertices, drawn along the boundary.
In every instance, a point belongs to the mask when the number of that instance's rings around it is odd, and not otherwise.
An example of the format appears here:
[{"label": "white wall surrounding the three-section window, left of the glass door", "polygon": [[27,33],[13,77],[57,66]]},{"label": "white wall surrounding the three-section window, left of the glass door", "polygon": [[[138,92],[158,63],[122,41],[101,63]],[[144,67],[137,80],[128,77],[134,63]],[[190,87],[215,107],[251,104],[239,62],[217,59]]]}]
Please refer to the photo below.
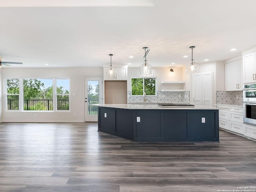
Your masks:
[{"label": "white wall surrounding the three-section window, left of the glass door", "polygon": [[[2,68],[2,78],[70,78],[70,112],[6,111],[2,99],[2,122],[84,122],[84,77],[102,77],[99,68]],[[3,82],[1,83],[3,86]],[[76,96],[72,96],[76,93]],[[2,95],[4,91],[2,90]],[[3,97],[2,97],[3,98]],[[76,116],[73,114],[76,113]],[[37,117],[34,117],[34,115]]]}]

